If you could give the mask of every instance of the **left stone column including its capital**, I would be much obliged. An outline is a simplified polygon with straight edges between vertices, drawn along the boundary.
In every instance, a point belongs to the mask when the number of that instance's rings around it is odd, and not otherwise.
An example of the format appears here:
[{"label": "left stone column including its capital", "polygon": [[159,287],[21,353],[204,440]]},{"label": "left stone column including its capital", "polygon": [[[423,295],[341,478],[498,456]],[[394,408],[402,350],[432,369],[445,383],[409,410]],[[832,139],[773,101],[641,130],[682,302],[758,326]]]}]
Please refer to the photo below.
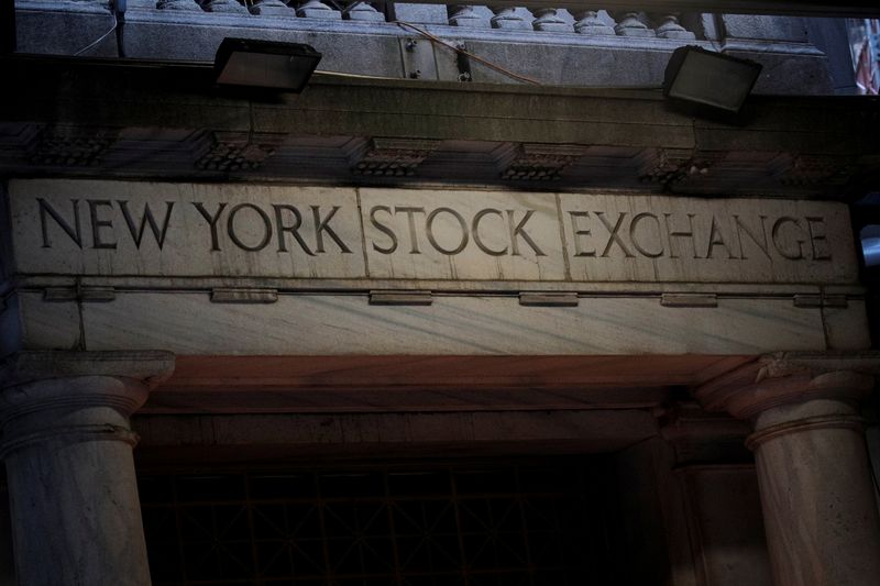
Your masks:
[{"label": "left stone column including its capital", "polygon": [[164,352],[22,352],[0,369],[0,424],[20,584],[146,586],[129,416]]}]

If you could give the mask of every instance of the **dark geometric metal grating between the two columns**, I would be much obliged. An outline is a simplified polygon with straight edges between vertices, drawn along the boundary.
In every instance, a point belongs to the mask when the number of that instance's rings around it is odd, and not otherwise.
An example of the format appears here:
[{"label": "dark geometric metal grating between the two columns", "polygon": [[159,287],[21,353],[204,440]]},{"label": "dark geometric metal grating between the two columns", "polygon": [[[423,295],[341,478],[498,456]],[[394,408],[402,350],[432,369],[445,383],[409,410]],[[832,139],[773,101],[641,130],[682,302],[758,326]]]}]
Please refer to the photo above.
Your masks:
[{"label": "dark geometric metal grating between the two columns", "polygon": [[141,477],[153,583],[609,584],[586,462]]}]

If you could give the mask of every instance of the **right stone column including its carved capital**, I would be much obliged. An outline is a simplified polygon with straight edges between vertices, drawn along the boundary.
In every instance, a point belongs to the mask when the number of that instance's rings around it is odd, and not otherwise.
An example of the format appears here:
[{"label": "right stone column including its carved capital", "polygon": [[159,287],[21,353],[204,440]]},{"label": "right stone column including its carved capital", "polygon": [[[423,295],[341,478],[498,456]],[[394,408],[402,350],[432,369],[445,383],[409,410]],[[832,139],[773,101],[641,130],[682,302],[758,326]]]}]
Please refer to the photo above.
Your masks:
[{"label": "right stone column including its carved capital", "polygon": [[859,401],[877,354],[767,356],[698,389],[749,419],[777,586],[880,584],[880,520]]}]

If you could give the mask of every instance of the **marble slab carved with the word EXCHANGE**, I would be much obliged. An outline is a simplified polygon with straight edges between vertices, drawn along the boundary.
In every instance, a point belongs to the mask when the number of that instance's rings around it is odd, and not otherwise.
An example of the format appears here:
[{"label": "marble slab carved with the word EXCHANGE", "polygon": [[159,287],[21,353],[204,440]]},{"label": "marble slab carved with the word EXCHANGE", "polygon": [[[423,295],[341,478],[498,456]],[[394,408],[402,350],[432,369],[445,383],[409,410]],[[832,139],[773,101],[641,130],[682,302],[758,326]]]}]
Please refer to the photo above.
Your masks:
[{"label": "marble slab carved with the word EXCHANGE", "polygon": [[574,280],[857,280],[845,206],[653,196],[560,200]]}]

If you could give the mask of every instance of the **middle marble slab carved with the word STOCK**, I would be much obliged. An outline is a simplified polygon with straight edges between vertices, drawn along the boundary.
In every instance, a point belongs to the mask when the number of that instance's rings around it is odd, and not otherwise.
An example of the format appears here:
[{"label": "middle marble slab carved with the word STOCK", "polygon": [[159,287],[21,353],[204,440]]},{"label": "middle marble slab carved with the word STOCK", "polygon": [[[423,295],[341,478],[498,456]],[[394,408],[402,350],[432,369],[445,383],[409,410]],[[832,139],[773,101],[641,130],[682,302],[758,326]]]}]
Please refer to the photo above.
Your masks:
[{"label": "middle marble slab carved with the word STOCK", "polygon": [[362,189],[361,206],[371,277],[565,278],[553,196]]}]

